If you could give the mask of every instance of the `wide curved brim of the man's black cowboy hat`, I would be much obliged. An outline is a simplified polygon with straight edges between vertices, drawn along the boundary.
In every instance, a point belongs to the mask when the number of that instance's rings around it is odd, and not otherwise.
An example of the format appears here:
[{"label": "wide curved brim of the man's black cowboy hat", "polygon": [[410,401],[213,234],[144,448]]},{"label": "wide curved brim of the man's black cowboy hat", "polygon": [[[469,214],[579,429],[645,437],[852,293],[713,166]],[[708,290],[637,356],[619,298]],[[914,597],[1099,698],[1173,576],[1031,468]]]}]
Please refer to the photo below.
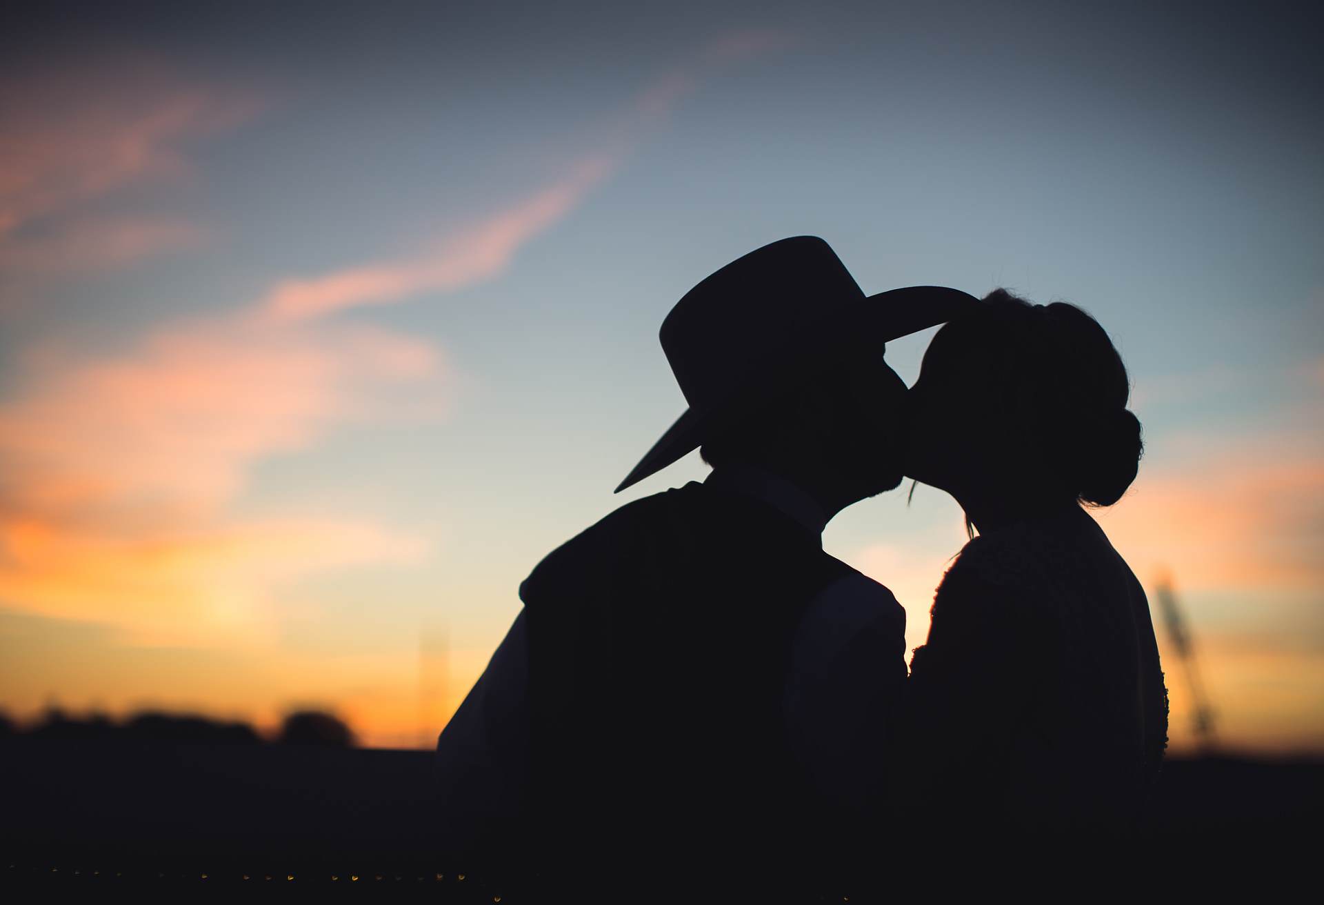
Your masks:
[{"label": "wide curved brim of the man's black cowboy hat", "polygon": [[[972,305],[978,305],[978,299],[969,293],[947,286],[906,286],[892,289],[875,295],[866,295],[859,303],[853,305],[850,315],[834,317],[830,323],[821,323],[812,337],[801,337],[796,345],[830,345],[833,335],[845,339],[858,337],[859,331],[876,338],[879,343],[888,343],[912,333],[936,327],[945,323],[961,311],[970,310]],[[784,354],[782,348],[771,348],[763,356],[764,360]],[[719,421],[732,405],[739,404],[747,395],[749,384],[755,382],[756,374],[749,374],[745,384],[727,395],[726,399],[703,407],[690,407],[675,423],[667,428],[666,433],[653,444],[653,448],[639,460],[639,464],[621,481],[613,493],[620,493],[626,488],[638,484],[643,478],[661,472],[686,454],[703,445],[711,425]],[[744,392],[741,392],[744,390]]]}]

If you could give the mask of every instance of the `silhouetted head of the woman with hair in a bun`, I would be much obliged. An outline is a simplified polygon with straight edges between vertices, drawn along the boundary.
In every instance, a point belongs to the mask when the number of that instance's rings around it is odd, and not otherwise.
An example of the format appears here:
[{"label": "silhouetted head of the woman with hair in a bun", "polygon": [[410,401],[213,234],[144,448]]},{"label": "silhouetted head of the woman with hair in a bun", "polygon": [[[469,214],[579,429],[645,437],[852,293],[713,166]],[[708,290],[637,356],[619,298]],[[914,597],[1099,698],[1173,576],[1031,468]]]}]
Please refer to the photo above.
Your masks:
[{"label": "silhouetted head of the woman with hair in a bun", "polygon": [[1136,478],[1143,449],[1129,392],[1121,356],[1092,317],[994,290],[924,354],[906,473],[957,498],[1110,506]]}]

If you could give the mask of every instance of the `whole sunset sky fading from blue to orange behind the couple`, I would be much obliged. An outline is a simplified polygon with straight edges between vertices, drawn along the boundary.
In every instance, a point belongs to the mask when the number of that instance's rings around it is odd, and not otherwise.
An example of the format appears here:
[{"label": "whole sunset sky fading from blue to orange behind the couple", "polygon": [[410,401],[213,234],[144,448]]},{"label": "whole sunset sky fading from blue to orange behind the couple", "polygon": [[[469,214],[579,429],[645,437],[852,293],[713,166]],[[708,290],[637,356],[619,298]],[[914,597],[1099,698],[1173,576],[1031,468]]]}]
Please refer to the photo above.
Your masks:
[{"label": "whole sunset sky fading from blue to orange behind the couple", "polygon": [[[612,496],[683,409],[663,315],[810,233],[870,293],[1103,323],[1147,454],[1100,523],[1152,602],[1172,575],[1219,738],[1324,751],[1308,5],[45,8],[0,34],[12,717],[430,743],[545,553],[707,470]],[[908,383],[929,335],[888,346]],[[825,535],[910,647],[963,541],[924,486]]]}]

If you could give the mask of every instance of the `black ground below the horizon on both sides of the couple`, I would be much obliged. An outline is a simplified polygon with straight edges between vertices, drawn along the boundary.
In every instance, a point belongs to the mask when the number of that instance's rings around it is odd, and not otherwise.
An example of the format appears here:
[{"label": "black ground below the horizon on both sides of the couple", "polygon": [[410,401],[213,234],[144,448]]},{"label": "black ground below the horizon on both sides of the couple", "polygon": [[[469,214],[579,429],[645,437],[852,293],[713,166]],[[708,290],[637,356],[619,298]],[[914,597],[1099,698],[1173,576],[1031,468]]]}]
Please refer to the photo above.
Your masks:
[{"label": "black ground below the horizon on both sides of the couple", "polygon": [[[429,843],[446,812],[426,751],[17,738],[0,743],[0,766],[7,884],[389,884],[520,900]],[[1143,847],[1176,876],[1275,876],[1313,860],[1321,822],[1321,762],[1172,759]]]}]

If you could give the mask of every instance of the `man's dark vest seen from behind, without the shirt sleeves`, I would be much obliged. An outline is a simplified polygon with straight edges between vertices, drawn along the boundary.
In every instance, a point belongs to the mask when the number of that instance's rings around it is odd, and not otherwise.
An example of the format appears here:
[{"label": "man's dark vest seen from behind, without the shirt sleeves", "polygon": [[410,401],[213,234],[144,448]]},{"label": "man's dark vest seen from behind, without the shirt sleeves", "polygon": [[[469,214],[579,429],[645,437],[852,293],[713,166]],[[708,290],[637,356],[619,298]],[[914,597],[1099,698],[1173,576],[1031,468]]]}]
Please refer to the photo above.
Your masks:
[{"label": "man's dark vest seen from behind, without the shirt sleeves", "polygon": [[531,856],[598,871],[804,863],[822,825],[786,743],[790,645],[850,574],[781,511],[688,484],[629,504],[520,586]]}]

